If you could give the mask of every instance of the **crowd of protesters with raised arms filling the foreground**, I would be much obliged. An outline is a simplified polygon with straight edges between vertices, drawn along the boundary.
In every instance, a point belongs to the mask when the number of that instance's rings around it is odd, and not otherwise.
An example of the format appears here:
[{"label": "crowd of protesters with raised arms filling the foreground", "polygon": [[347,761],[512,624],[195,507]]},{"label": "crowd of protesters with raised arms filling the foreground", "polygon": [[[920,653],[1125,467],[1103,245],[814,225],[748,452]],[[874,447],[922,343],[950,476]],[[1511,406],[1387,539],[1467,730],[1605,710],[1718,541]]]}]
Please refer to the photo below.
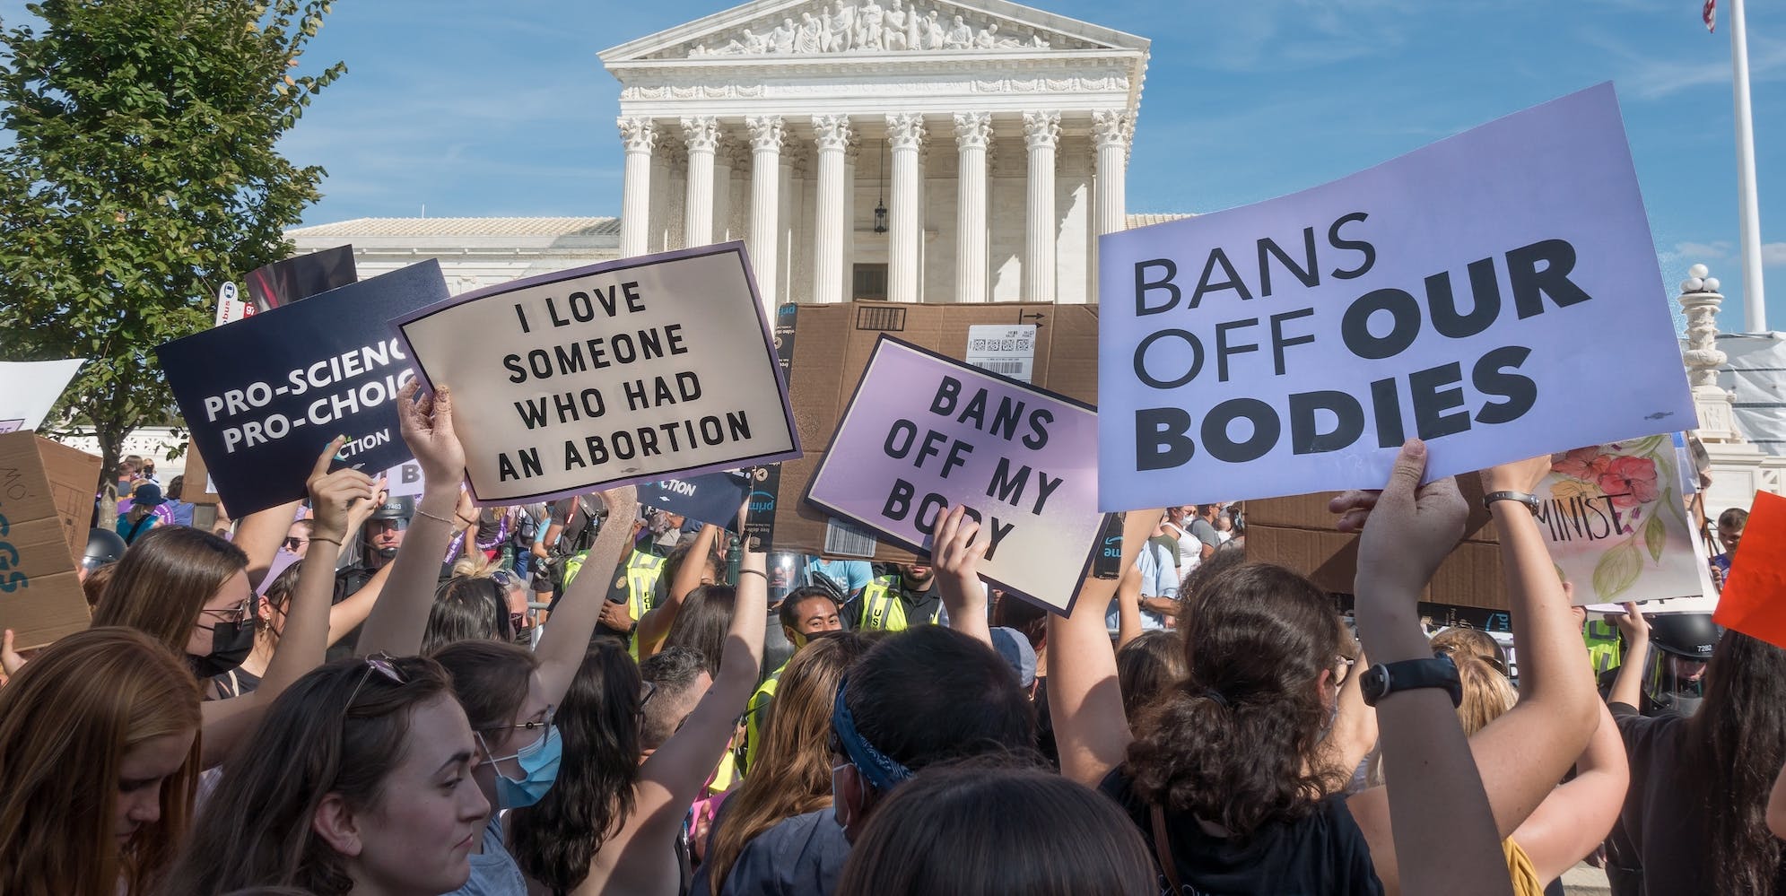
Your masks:
[{"label": "crowd of protesters with raised arms filling the foreground", "polygon": [[220,534],[120,469],[93,626],[7,634],[0,892],[1786,894],[1786,651],[1634,607],[1597,646],[1495,500],[1515,682],[1422,623],[1466,507],[1418,441],[1332,502],[1350,616],[1218,503],[1127,514],[1050,616],[959,509],[898,566],[632,489],[477,509],[450,402],[400,403],[420,496],[338,441]]}]

